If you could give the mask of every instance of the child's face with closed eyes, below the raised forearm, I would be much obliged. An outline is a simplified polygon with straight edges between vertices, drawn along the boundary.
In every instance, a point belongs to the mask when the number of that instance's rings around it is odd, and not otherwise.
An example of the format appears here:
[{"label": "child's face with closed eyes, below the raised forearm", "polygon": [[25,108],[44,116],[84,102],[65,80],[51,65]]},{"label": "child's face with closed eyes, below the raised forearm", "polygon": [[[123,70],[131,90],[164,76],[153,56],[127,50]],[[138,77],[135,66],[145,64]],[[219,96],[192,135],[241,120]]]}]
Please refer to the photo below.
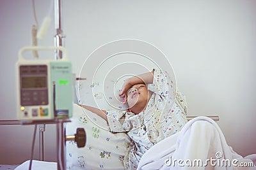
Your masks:
[{"label": "child's face with closed eyes, below the raised forearm", "polygon": [[129,108],[145,107],[148,102],[148,89],[145,84],[133,85],[127,91],[127,103]]}]

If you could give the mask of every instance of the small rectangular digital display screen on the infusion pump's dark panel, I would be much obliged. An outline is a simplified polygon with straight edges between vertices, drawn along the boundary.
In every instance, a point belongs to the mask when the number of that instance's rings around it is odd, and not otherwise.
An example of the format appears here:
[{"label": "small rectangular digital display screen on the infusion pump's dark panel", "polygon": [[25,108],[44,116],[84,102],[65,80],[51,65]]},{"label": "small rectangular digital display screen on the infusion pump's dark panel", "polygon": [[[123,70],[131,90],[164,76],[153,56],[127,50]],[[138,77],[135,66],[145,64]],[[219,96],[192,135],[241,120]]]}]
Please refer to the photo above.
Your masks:
[{"label": "small rectangular digital display screen on the infusion pump's dark panel", "polygon": [[46,76],[24,76],[21,83],[22,89],[28,88],[46,88]]}]

